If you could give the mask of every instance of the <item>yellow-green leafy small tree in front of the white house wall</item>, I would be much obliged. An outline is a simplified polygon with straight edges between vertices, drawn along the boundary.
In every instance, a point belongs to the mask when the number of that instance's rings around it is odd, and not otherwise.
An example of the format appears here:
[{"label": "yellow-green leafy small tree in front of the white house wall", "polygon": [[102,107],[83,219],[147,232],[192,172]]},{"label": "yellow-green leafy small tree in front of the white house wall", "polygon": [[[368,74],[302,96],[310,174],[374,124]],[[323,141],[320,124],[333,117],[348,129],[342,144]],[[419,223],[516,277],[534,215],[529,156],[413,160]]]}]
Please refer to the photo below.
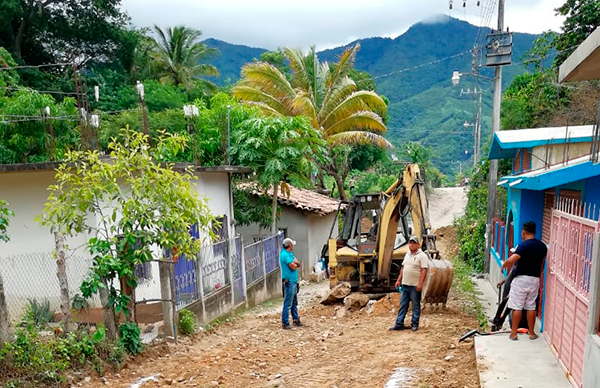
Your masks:
[{"label": "yellow-green leafy small tree in front of the white house wall", "polygon": [[82,294],[108,290],[110,308],[132,321],[134,267],[153,259],[153,246],[170,256],[195,257],[202,240],[189,230],[194,224],[207,230],[214,219],[192,184],[191,170],[162,163],[183,149],[181,136],[164,134],[155,148],[139,132],[127,129],[121,136],[110,144],[111,163],[95,151],[67,153],[40,222],[67,236],[94,231],[87,243],[93,266]]}]

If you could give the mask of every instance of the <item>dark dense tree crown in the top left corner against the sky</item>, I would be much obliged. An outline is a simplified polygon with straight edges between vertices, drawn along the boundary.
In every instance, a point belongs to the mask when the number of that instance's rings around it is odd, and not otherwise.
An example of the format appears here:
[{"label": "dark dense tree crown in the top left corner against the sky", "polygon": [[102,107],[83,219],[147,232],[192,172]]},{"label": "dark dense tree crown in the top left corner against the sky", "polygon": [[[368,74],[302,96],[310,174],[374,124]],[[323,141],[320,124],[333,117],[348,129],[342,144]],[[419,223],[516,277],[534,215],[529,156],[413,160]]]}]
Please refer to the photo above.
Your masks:
[{"label": "dark dense tree crown in the top left corner against the sky", "polygon": [[109,59],[128,49],[120,0],[6,0],[0,15],[0,43],[29,64]]}]

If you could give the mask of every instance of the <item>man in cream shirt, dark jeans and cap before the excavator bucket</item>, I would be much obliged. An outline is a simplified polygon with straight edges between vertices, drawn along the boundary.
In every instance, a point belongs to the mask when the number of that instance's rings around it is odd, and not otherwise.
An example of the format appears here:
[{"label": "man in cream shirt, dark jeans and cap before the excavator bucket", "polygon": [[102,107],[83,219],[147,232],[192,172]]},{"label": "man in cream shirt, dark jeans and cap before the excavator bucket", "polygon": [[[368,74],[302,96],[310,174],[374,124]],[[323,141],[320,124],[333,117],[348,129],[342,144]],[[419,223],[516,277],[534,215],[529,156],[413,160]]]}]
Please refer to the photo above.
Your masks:
[{"label": "man in cream shirt, dark jeans and cap before the excavator bucket", "polygon": [[400,276],[396,280],[396,288],[402,285],[402,298],[400,300],[400,309],[396,324],[390,327],[390,330],[404,330],[404,317],[408,312],[408,303],[412,302],[412,331],[419,328],[419,318],[421,316],[421,291],[427,276],[427,255],[419,246],[419,238],[410,236],[408,239],[409,252],[404,256]]}]

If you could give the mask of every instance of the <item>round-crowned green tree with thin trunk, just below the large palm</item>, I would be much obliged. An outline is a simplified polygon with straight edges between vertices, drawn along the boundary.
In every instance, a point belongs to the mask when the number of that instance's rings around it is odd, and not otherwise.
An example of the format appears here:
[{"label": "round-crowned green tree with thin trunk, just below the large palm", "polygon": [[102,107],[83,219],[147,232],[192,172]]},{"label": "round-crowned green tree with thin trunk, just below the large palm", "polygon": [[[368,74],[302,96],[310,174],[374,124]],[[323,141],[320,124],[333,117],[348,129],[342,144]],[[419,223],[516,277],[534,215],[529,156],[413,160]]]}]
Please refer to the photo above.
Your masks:
[{"label": "round-crowned green tree with thin trunk, just below the large palm", "polygon": [[[320,134],[304,117],[254,118],[235,132],[232,156],[257,174],[261,190],[272,190],[271,233],[277,231],[277,198],[291,178],[308,180],[313,161],[323,155]],[[289,195],[289,193],[288,193]]]}]

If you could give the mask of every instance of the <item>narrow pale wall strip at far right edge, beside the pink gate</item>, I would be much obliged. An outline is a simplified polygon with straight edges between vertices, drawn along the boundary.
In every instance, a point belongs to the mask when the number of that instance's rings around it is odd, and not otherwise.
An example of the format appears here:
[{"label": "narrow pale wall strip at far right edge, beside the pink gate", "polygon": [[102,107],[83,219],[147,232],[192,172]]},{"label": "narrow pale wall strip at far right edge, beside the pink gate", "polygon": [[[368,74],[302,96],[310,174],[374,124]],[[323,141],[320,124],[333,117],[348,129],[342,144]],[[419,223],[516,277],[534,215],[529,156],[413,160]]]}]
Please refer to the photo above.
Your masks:
[{"label": "narrow pale wall strip at far right edge, beside the pink gate", "polygon": [[590,313],[587,325],[587,340],[583,361],[583,387],[600,387],[600,337],[598,336],[600,320],[600,234],[594,239],[592,258],[592,274],[590,279]]}]

